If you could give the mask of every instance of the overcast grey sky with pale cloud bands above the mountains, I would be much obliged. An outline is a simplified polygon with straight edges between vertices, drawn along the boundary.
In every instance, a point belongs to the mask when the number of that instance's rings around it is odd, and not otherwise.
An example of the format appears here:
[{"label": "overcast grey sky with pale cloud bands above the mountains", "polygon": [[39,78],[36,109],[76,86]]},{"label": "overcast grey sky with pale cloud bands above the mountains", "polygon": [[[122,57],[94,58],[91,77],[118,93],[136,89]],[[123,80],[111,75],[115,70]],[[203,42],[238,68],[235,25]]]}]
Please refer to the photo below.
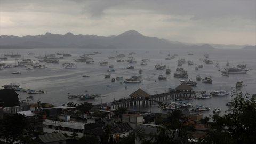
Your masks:
[{"label": "overcast grey sky with pale cloud bands above the mountains", "polygon": [[0,0],[0,35],[119,35],[256,45],[256,1]]}]

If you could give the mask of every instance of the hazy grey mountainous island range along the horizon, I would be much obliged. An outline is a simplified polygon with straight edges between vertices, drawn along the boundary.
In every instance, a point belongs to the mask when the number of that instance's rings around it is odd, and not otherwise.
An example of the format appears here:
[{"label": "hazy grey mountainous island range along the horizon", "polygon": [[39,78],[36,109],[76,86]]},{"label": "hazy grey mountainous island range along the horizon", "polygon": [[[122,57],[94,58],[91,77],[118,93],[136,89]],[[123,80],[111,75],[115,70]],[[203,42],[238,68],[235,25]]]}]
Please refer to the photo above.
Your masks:
[{"label": "hazy grey mountainous island range along the horizon", "polygon": [[[230,47],[232,45],[229,45]],[[246,47],[249,45],[246,45]],[[45,33],[36,36],[0,36],[0,49],[35,49],[35,48],[81,48],[81,49],[214,49],[225,47],[218,44],[188,44],[179,41],[168,41],[157,37],[148,37],[135,30],[108,37],[97,35],[65,35]],[[235,46],[234,46],[235,47]],[[236,46],[237,47],[237,46]],[[241,46],[239,46],[241,47]],[[250,47],[250,46],[249,46]],[[243,47],[241,47],[243,48]]]}]

